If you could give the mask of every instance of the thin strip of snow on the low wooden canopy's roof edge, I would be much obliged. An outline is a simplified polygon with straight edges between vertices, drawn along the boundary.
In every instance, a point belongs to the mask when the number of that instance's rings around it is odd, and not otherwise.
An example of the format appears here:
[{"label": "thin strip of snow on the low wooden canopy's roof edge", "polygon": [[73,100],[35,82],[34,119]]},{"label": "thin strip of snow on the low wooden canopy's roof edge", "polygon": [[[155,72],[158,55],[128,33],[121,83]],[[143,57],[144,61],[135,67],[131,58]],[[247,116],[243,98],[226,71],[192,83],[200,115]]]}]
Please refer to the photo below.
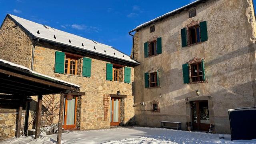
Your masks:
[{"label": "thin strip of snow on the low wooden canopy's roof edge", "polygon": [[22,65],[19,65],[19,64],[14,64],[14,63],[12,63],[12,62],[8,62],[8,61],[2,60],[2,59],[0,59],[0,62],[1,62],[1,63],[4,63],[4,64],[8,64],[8,65],[13,66],[13,67],[16,67],[16,68],[20,68],[20,69],[26,70],[26,71],[30,72],[32,75],[37,76],[37,77],[40,77],[40,78],[44,78],[44,79],[48,79],[48,80],[50,79],[50,80],[52,80],[52,81],[61,82],[61,83],[64,83],[64,84],[68,84],[68,85],[71,85],[71,86],[75,86],[75,87],[80,88],[80,86],[78,86],[77,84],[73,84],[73,83],[71,83],[71,82],[66,82],[66,81],[60,80],[60,79],[58,79],[58,78],[54,78],[54,77],[51,77],[51,76],[46,76],[46,75],[44,75],[44,74],[40,74],[40,73],[38,73],[38,72],[34,72],[33,70],[30,70],[29,68],[27,68],[27,67],[25,67],[25,66],[22,66]]}]

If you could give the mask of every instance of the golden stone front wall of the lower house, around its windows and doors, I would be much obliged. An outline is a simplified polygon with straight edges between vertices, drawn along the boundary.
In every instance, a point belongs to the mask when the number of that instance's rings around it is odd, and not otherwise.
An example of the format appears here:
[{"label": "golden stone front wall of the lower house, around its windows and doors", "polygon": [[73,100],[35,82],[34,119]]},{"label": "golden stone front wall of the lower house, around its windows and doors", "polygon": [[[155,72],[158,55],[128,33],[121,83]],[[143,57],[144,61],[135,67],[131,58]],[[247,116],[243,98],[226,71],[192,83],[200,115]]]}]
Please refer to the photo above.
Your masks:
[{"label": "golden stone front wall of the lower house, around its windows and doors", "polygon": [[[66,80],[74,84],[78,84],[81,92],[85,92],[85,96],[81,96],[81,110],[77,113],[80,120],[80,129],[98,129],[110,127],[110,110],[108,111],[108,121],[104,121],[103,110],[103,94],[126,94],[125,98],[125,117],[124,123],[134,120],[134,101],[132,95],[132,84],[124,82],[113,82],[106,80],[106,63],[108,60],[97,56],[86,55],[92,58],[91,77],[73,76],[67,74],[54,73],[55,51],[61,51],[57,46],[52,46],[45,42],[39,42],[34,53],[34,71]],[[134,80],[134,69],[131,70],[131,81]],[[54,98],[54,103],[59,105],[59,95]],[[110,108],[110,106],[109,106]],[[58,110],[56,110],[58,112]],[[54,116],[54,122],[58,122],[58,116]],[[79,126],[77,126],[79,127]]]}]

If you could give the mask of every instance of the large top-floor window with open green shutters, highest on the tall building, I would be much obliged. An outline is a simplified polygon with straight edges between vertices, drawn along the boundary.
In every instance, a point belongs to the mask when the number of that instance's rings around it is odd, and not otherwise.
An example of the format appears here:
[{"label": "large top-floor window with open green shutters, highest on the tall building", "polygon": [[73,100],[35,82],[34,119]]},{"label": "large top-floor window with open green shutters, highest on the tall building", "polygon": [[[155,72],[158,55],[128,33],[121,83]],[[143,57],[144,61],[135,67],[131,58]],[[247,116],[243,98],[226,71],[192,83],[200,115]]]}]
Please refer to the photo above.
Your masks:
[{"label": "large top-floor window with open green shutters, highest on the tall building", "polygon": [[182,47],[200,44],[208,40],[207,23],[192,21],[186,28],[181,29]]}]

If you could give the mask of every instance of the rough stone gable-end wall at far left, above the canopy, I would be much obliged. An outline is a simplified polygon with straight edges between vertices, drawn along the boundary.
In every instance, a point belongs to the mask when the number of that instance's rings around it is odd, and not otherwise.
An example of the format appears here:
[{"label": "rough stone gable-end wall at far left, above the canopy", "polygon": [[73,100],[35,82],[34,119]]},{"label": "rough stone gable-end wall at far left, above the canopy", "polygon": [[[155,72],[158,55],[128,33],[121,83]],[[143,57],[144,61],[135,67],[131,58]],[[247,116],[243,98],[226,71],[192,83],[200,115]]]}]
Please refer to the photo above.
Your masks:
[{"label": "rough stone gable-end wall at far left, above the canopy", "polygon": [[0,29],[0,58],[30,68],[32,39],[10,18]]}]

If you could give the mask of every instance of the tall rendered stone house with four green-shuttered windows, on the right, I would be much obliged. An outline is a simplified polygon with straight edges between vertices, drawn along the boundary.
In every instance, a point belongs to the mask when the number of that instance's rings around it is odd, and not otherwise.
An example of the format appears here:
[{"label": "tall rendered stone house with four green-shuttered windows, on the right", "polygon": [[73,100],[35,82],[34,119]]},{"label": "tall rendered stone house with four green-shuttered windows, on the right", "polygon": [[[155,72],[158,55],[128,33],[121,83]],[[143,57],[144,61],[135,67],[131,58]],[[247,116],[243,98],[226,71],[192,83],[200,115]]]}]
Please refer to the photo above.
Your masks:
[{"label": "tall rendered stone house with four green-shuttered windows, on the right", "polygon": [[228,109],[256,106],[252,0],[196,0],[134,30],[135,119],[230,133]]}]

